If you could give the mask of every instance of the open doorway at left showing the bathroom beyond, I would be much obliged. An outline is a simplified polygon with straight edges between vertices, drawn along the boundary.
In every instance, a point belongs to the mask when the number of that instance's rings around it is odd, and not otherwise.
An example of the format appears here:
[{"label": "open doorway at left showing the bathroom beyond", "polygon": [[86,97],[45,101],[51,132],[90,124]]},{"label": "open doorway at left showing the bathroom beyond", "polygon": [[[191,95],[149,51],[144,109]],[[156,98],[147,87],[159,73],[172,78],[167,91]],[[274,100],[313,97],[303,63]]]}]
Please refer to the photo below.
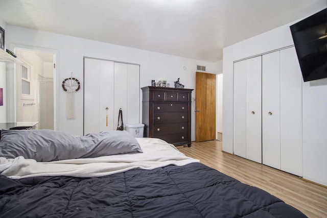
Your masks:
[{"label": "open doorway at left showing the bathroom beyond", "polygon": [[55,54],[16,49],[16,122],[39,122],[37,129],[55,129]]}]

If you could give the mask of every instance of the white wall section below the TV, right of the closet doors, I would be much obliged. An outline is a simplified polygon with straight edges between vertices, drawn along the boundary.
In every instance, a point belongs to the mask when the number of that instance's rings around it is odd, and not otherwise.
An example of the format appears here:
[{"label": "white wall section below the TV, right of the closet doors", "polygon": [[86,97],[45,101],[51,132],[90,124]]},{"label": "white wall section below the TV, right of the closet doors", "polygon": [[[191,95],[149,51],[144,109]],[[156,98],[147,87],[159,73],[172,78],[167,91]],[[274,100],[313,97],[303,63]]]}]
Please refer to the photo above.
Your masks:
[{"label": "white wall section below the TV, right of the closet doors", "polygon": [[327,185],[327,78],[302,84],[303,178]]}]

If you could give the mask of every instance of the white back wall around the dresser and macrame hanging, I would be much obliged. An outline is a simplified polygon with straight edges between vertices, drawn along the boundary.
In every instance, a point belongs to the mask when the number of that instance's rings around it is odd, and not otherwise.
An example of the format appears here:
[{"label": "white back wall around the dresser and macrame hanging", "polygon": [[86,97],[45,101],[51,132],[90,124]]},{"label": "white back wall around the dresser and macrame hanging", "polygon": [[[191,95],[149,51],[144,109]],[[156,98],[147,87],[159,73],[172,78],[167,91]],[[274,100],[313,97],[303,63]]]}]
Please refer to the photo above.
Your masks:
[{"label": "white back wall around the dresser and macrame hanging", "polygon": [[[57,60],[56,87],[59,88],[56,105],[59,117],[57,130],[74,135],[83,134],[83,57],[102,58],[107,60],[140,64],[140,86],[151,85],[151,80],[166,79],[171,86],[180,78],[185,88],[195,88],[196,65],[204,65],[207,71],[213,71],[213,64],[209,62],[160,54],[130,47],[87,40],[66,35],[54,34],[32,29],[8,26],[7,44],[22,44],[46,49],[58,50],[60,58]],[[11,49],[13,49],[11,47]],[[185,69],[184,69],[185,66]],[[81,81],[82,89],[75,95],[76,118],[65,118],[65,92],[60,88],[61,82],[71,76]],[[140,90],[140,94],[141,94]],[[140,104],[142,105],[142,104]],[[192,92],[192,111],[195,108],[195,91]],[[142,109],[142,108],[141,108]],[[192,116],[192,140],[195,140],[195,114]]]}]

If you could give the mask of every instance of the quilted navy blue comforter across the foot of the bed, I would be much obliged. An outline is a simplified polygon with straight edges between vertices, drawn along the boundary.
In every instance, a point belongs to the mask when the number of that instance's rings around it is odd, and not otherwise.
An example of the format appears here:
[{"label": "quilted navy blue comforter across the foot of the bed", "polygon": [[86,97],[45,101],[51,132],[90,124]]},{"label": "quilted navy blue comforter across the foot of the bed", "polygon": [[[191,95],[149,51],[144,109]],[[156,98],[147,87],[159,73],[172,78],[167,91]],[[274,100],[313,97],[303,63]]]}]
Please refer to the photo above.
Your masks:
[{"label": "quilted navy blue comforter across the foot of the bed", "polygon": [[201,163],[105,177],[0,176],[0,217],[306,217]]}]

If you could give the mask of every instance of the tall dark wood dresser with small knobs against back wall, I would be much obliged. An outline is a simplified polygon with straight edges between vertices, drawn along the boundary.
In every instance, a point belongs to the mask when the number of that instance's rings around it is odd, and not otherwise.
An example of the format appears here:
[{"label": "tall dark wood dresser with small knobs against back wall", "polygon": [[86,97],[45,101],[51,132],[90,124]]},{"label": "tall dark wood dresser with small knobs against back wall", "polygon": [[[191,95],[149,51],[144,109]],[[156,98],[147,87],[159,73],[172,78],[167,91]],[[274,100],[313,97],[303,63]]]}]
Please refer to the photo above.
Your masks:
[{"label": "tall dark wood dresser with small knobs against back wall", "polygon": [[191,147],[193,89],[146,86],[142,90],[144,136]]}]

